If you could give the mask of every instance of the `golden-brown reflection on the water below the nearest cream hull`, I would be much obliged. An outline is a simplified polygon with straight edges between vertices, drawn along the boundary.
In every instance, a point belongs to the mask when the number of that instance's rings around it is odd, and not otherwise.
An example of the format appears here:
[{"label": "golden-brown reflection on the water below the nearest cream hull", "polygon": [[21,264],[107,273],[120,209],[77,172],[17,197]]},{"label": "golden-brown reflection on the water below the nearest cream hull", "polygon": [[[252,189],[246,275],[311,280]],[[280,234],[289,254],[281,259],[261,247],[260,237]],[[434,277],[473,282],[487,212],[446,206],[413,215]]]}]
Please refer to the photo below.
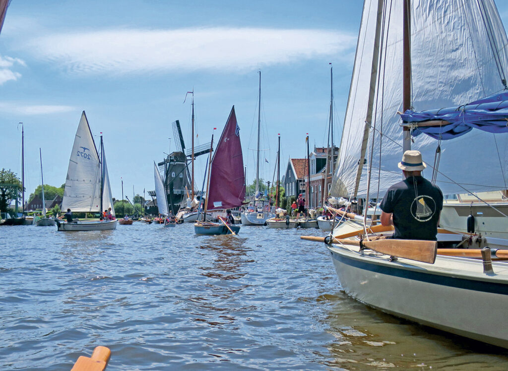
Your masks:
[{"label": "golden-brown reflection on the water below the nearest cream hull", "polygon": [[[333,341],[325,363],[345,369],[506,369],[508,352],[387,315],[344,293],[317,298]],[[480,354],[479,354],[480,353]]]}]

